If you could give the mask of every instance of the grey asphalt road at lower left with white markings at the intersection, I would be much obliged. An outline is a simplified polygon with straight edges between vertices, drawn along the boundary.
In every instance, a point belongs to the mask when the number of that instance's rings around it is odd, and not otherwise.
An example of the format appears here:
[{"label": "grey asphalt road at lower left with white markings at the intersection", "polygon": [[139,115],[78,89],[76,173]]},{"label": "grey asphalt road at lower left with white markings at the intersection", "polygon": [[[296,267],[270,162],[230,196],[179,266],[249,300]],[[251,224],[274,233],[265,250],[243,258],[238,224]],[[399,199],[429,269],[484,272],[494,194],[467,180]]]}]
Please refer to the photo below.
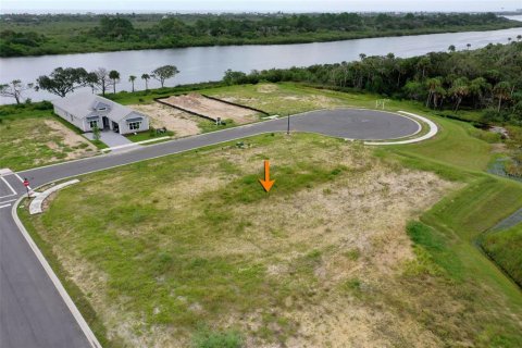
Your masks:
[{"label": "grey asphalt road at lower left with white markings at the intersection", "polygon": [[[0,207],[25,191],[20,179],[2,176]],[[0,347],[90,347],[57,288],[11,216],[0,209]]]}]

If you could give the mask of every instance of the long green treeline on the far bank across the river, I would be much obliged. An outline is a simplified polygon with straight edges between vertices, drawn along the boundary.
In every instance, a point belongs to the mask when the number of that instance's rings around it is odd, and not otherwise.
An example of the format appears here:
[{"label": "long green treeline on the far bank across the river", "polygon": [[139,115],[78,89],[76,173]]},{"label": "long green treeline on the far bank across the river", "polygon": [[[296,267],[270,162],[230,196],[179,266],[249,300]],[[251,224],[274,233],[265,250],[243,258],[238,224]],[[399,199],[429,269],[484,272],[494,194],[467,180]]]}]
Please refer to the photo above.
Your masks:
[{"label": "long green treeline on the far bank across the river", "polygon": [[483,14],[120,14],[0,16],[0,57],[333,41],[522,26]]}]

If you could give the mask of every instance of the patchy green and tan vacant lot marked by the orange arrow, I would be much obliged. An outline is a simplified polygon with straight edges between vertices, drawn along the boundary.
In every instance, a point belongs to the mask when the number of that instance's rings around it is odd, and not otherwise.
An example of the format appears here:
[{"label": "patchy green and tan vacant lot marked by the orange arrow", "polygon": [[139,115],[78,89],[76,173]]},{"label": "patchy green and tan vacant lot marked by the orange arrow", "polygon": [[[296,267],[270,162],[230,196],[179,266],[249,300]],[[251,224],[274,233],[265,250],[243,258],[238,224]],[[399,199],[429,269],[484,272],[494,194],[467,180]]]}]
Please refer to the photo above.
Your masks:
[{"label": "patchy green and tan vacant lot marked by the orange arrow", "polygon": [[[406,222],[455,185],[337,139],[247,144],[88,176],[32,220],[109,335],[185,346],[204,324],[237,328],[254,346],[398,341],[362,320],[436,343],[413,316],[407,325],[390,306],[374,318],[358,297],[403,272],[413,257]],[[270,195],[257,182],[264,158],[277,179]]]}]

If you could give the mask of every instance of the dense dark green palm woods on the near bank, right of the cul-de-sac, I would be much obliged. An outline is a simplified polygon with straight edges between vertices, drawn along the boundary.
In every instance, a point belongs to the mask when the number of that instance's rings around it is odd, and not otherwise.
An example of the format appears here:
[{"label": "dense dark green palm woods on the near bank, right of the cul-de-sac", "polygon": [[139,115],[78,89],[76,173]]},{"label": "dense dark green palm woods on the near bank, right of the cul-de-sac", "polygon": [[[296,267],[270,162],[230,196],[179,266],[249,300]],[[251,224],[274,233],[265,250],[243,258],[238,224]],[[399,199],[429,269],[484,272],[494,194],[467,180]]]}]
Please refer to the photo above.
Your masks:
[{"label": "dense dark green palm woods on the near bank, right of the cul-de-sac", "polygon": [[[518,40],[519,42],[517,42]],[[485,122],[522,125],[522,36],[510,45],[478,50],[432,52],[408,59],[393,53],[309,67],[250,74],[227,71],[224,82],[301,82],[337,89],[361,89],[395,99],[414,99],[434,109],[484,109]]]}]

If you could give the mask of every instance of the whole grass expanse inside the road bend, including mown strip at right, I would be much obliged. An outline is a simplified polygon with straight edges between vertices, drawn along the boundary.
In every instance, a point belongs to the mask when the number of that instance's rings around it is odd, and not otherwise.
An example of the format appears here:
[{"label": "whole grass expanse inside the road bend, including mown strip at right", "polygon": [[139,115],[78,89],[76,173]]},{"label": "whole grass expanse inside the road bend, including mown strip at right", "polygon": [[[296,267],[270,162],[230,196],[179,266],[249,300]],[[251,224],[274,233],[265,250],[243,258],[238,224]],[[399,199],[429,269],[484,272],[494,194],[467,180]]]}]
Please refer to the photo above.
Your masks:
[{"label": "whole grass expanse inside the road bend, including mown strip at right", "polygon": [[[61,276],[74,275],[114,346],[194,335],[518,347],[521,293],[473,243],[522,204],[522,189],[482,173],[490,146],[468,124],[436,121],[435,139],[376,158],[336,139],[266,135],[246,149],[137,163],[88,175],[24,220],[53,246]],[[269,195],[257,182],[265,158],[277,179]]]}]

